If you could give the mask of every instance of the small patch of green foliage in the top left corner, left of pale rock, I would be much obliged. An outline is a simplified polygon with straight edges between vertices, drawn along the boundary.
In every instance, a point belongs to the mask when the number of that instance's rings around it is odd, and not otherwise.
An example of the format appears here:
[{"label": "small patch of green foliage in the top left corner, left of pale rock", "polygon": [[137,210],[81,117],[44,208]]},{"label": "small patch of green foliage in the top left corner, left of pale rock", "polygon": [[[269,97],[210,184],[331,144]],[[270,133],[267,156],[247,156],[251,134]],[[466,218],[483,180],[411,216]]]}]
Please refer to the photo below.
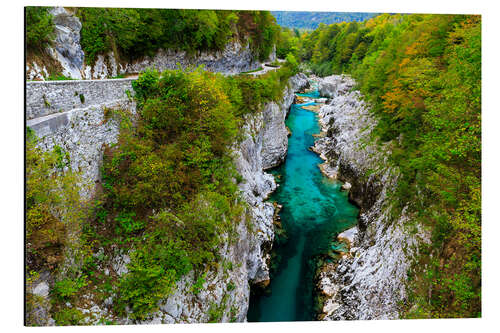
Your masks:
[{"label": "small patch of green foliage in the top left corner, left of pale rock", "polygon": [[26,47],[42,51],[55,37],[50,7],[26,7]]}]

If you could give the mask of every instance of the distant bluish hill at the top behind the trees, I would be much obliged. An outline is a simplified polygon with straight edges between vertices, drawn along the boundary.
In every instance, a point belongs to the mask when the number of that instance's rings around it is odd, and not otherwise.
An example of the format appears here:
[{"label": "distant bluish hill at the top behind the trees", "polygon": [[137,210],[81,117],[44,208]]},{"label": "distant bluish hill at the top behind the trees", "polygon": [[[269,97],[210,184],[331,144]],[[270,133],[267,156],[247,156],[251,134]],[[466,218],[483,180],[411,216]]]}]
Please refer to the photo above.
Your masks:
[{"label": "distant bluish hill at the top behind the trees", "polygon": [[285,12],[271,11],[282,27],[316,29],[320,23],[364,21],[376,13],[336,13],[336,12]]}]

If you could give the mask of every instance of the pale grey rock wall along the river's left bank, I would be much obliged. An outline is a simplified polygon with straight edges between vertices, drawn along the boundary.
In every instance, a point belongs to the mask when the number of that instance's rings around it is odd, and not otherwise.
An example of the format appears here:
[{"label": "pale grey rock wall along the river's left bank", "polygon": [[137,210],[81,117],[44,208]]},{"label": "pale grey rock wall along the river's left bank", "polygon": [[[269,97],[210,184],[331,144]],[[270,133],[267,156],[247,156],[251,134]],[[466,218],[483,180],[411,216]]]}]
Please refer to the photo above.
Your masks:
[{"label": "pale grey rock wall along the river's left bank", "polygon": [[[233,151],[236,169],[243,178],[239,188],[248,208],[236,228],[236,241],[226,243],[221,249],[225,264],[208,273],[198,295],[190,292],[194,274],[184,277],[176,292],[162,302],[160,311],[142,323],[208,322],[213,308],[221,310],[222,322],[246,321],[250,285],[269,281],[269,252],[274,240],[275,208],[266,199],[277,185],[264,170],[286,156],[284,120],[294,101],[294,92],[307,85],[307,77],[297,74],[290,78],[279,103],[267,103],[260,112],[245,118],[243,139],[234,145]],[[281,130],[275,132],[277,128]]]}]

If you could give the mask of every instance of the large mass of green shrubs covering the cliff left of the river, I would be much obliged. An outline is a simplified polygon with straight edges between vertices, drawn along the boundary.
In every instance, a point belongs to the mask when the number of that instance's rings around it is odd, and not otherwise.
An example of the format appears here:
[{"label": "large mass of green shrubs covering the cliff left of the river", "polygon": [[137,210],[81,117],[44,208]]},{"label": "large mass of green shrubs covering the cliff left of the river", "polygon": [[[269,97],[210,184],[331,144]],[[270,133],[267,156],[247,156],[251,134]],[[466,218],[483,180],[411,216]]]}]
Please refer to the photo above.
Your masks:
[{"label": "large mass of green shrubs covering the cliff left of the river", "polygon": [[105,152],[103,204],[87,237],[134,248],[116,300],[133,318],[216,262],[241,214],[229,151],[239,120],[223,80],[201,68],[141,74],[137,126]]}]

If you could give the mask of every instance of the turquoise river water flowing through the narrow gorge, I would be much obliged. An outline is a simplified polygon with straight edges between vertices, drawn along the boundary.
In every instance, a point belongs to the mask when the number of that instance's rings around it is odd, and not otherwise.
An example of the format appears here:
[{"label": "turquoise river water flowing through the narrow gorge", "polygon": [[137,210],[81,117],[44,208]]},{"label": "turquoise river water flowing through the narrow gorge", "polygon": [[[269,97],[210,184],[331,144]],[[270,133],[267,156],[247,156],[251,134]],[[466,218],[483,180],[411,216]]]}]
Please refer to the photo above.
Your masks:
[{"label": "turquoise river water flowing through the narrow gorge", "polygon": [[[319,97],[317,91],[298,95]],[[322,160],[308,149],[314,144],[312,134],[320,132],[316,114],[293,104],[286,125],[292,131],[288,154],[272,171],[280,186],[270,198],[283,205],[280,217],[286,237],[275,241],[272,261],[278,266],[270,285],[250,297],[249,322],[315,320],[317,258],[331,251],[332,240],[354,226],[358,214],[341,184],[323,176],[318,168]]]}]

